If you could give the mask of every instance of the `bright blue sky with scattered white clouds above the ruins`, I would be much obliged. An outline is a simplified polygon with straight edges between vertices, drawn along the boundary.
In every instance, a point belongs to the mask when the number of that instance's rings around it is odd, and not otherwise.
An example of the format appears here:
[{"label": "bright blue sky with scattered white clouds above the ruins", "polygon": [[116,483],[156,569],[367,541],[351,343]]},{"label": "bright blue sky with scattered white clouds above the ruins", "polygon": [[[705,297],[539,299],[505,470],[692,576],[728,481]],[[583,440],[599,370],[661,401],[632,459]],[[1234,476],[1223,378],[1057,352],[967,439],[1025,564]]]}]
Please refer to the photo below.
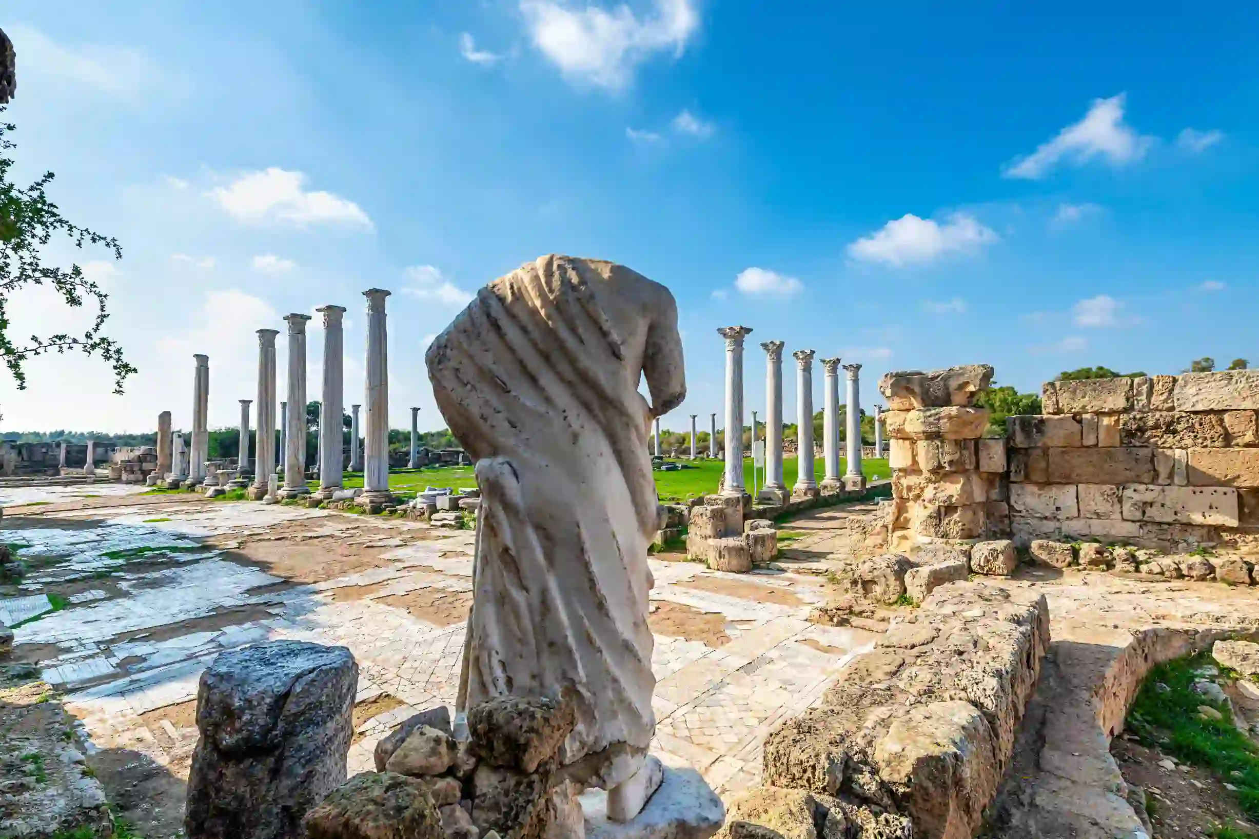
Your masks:
[{"label": "bright blue sky with scattered white clouds above the ruins", "polygon": [[[64,211],[122,240],[121,263],[78,258],[140,374],[112,396],[99,362],[39,360],[28,391],[0,381],[0,428],[188,425],[194,352],[233,424],[253,331],[326,303],[350,309],[361,401],[370,287],[394,292],[393,424],[419,405],[439,428],[431,336],[550,252],[672,289],[677,430],[720,411],[731,323],[754,328],[749,410],[771,338],[861,362],[865,406],[888,370],[988,362],[1034,390],[1259,364],[1256,24],[1210,3],[8,0],[19,175],[57,171]],[[19,333],[74,321],[13,306]]]}]

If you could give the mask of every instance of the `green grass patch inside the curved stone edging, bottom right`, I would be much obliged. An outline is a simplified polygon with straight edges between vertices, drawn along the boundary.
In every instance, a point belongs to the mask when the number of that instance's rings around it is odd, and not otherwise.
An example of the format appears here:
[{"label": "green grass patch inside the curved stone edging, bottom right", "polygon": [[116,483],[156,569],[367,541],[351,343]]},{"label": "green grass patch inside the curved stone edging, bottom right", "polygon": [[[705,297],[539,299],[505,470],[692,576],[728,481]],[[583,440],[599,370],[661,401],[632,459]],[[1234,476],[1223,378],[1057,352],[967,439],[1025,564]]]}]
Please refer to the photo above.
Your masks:
[{"label": "green grass patch inside the curved stone edging, bottom right", "polygon": [[[1236,786],[1243,811],[1259,819],[1259,746],[1233,725],[1228,706],[1194,692],[1194,682],[1201,678],[1194,670],[1205,664],[1215,660],[1202,653],[1155,667],[1128,711],[1128,730],[1142,745],[1161,747],[1181,762],[1209,769]],[[1199,706],[1215,708],[1222,718],[1199,717]]]}]

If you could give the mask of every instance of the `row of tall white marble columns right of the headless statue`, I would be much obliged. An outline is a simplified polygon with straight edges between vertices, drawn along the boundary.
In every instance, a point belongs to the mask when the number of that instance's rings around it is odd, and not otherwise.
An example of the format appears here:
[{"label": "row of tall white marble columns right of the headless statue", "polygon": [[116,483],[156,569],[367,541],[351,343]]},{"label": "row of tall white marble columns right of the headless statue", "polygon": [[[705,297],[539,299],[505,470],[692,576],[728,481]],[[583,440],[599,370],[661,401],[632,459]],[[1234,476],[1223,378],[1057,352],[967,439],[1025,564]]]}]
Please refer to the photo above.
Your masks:
[{"label": "row of tall white marble columns right of the headless statue", "polygon": [[[723,494],[743,496],[747,488],[743,479],[743,340],[752,333],[745,326],[728,326],[718,330],[725,338],[725,481]],[[782,384],[782,341],[765,341],[760,348],[765,351],[765,484],[759,493],[760,501],[786,503],[787,487],[783,481],[783,384]],[[822,358],[825,382],[822,389],[822,458],[825,477],[821,486],[813,475],[813,356],[815,350],[797,350],[792,357],[797,362],[796,375],[796,414],[797,449],[799,460],[796,486],[791,497],[807,498],[818,492],[833,492],[841,488],[861,491],[865,477],[861,474],[861,404],[860,380],[861,365],[841,365],[840,358]],[[840,384],[838,371],[844,367],[847,377],[847,428],[845,433],[847,450],[847,469],[840,475]],[[883,431],[879,426],[881,416],[875,415],[875,450],[883,452]],[[658,434],[657,434],[658,439]],[[713,436],[710,453],[715,453],[716,415],[713,415]],[[695,449],[695,415],[691,416],[691,454]]]}]

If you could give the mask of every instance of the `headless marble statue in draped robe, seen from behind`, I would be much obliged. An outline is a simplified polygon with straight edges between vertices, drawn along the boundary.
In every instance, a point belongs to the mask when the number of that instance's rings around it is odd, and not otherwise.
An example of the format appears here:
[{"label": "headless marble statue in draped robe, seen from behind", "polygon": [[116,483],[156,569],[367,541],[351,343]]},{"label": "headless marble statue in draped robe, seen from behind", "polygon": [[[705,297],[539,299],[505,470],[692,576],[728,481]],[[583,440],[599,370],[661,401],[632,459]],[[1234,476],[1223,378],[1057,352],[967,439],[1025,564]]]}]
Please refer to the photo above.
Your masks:
[{"label": "headless marble statue in draped robe, seen from behind", "polygon": [[656,726],[647,439],[686,392],[674,297],[622,265],[541,257],[482,288],[426,361],[481,488],[457,711],[570,687],[560,760],[614,786]]}]

